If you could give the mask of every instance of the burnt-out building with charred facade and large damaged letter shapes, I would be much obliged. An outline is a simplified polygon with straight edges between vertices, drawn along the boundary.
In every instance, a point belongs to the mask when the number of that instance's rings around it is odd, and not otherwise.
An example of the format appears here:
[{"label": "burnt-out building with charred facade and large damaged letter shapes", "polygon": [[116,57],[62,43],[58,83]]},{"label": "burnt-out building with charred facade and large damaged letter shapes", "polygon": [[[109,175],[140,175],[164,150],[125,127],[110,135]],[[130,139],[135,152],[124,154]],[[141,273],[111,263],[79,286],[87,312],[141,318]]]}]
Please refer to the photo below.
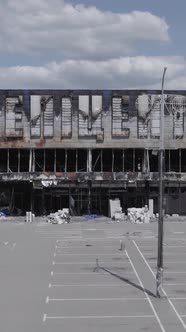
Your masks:
[{"label": "burnt-out building with charred facade and large damaged letter shapes", "polygon": [[[0,90],[0,208],[158,210],[161,91]],[[186,214],[186,91],[165,91],[166,213]]]}]

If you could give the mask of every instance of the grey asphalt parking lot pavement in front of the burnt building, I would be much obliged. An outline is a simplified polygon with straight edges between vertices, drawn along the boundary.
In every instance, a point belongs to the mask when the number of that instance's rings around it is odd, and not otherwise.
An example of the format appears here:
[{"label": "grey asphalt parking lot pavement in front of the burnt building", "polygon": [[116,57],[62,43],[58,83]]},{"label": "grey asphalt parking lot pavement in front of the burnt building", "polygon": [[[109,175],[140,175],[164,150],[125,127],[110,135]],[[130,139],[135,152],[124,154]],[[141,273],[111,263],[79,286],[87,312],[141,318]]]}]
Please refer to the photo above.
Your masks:
[{"label": "grey asphalt parking lot pavement in front of the burnt building", "polygon": [[158,299],[156,222],[0,222],[1,331],[186,331],[186,222],[164,234]]}]

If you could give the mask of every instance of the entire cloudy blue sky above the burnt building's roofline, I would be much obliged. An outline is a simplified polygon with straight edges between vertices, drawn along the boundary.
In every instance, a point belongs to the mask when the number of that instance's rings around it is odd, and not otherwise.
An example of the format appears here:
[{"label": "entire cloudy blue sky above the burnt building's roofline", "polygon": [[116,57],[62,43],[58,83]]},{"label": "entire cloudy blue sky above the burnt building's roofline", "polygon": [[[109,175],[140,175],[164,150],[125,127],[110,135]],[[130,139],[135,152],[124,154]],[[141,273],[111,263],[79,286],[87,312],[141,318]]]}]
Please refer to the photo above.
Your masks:
[{"label": "entire cloudy blue sky above the burnt building's roofline", "polygon": [[0,0],[0,88],[186,89],[186,1]]}]

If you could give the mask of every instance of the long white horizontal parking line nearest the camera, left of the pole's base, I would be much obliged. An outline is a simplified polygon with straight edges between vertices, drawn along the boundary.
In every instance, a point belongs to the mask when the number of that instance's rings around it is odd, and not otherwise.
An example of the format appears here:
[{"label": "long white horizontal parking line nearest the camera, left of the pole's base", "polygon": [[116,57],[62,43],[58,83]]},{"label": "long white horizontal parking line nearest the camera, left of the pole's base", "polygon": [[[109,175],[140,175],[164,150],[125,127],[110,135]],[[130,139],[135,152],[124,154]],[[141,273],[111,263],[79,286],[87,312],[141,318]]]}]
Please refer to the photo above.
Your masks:
[{"label": "long white horizontal parking line nearest the camera, left of the pole's base", "polygon": [[113,318],[154,318],[154,315],[128,315],[128,316],[48,316],[47,314],[43,315],[43,322],[46,322],[47,319],[113,319]]}]

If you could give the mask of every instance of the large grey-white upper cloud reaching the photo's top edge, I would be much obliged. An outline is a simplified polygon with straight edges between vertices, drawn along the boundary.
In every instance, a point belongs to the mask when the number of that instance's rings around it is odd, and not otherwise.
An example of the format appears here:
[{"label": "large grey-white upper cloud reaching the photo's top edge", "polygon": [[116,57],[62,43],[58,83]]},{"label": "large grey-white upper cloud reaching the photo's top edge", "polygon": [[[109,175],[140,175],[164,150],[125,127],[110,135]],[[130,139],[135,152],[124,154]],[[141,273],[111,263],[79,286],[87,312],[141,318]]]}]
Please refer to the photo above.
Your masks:
[{"label": "large grey-white upper cloud reaching the photo's top edge", "polygon": [[1,52],[98,60],[169,40],[165,19],[150,12],[113,13],[63,0],[0,0],[0,6]]}]

